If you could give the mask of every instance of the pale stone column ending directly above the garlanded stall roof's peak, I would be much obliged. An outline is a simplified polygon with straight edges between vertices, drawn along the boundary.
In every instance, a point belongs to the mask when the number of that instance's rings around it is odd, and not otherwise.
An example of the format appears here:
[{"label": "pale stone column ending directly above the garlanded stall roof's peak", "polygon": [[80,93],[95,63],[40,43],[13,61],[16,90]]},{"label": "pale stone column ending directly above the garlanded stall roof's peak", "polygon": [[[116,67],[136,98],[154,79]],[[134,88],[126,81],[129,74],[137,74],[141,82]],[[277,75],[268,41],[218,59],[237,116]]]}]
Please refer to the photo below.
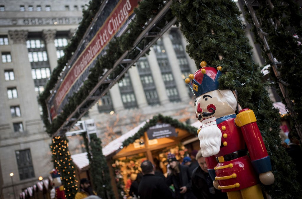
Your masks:
[{"label": "pale stone column ending directly above the garlanded stall roof's peak", "polygon": [[147,56],[148,63],[151,68],[151,73],[153,76],[154,84],[156,87],[156,91],[159,97],[160,104],[166,104],[169,102],[169,98],[166,92],[165,83],[162,80],[162,72],[160,71],[156,54],[153,48],[150,48],[149,55]]}]

